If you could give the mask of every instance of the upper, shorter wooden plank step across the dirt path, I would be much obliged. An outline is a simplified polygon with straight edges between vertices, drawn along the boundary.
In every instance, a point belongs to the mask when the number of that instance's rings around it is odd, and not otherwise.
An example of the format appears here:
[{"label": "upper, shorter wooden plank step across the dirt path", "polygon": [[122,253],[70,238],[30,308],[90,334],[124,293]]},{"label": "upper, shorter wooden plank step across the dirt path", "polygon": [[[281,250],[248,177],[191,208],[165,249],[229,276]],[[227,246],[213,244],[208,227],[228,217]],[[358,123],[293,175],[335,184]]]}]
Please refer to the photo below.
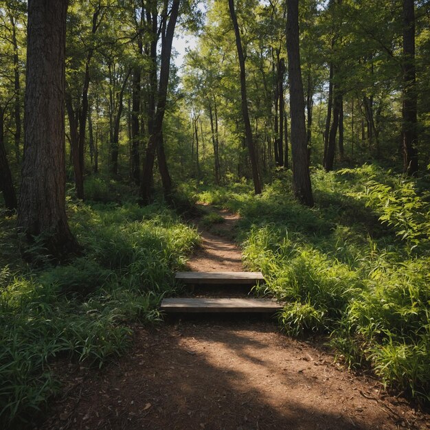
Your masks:
[{"label": "upper, shorter wooden plank step across the dirt path", "polygon": [[177,272],[185,284],[255,284],[264,281],[261,272]]}]

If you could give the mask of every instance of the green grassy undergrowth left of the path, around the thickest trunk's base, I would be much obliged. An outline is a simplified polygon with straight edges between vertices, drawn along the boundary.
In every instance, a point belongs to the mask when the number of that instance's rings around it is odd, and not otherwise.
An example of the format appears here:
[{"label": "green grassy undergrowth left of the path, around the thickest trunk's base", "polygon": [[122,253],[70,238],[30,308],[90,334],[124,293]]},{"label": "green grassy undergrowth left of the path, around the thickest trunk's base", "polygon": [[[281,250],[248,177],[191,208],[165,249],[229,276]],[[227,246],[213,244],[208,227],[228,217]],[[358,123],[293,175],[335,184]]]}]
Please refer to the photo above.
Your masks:
[{"label": "green grassy undergrowth left of the path, around the thickest trunk's base", "polygon": [[[102,183],[91,187],[94,196],[104,189]],[[42,256],[35,269],[16,256],[14,217],[1,215],[3,427],[21,427],[47,405],[59,388],[52,371],[57,359],[101,367],[128,348],[133,321],[158,321],[161,298],[175,288],[173,273],[198,240],[161,205],[100,203],[102,197],[87,204],[68,200],[84,256],[58,267]]]}]

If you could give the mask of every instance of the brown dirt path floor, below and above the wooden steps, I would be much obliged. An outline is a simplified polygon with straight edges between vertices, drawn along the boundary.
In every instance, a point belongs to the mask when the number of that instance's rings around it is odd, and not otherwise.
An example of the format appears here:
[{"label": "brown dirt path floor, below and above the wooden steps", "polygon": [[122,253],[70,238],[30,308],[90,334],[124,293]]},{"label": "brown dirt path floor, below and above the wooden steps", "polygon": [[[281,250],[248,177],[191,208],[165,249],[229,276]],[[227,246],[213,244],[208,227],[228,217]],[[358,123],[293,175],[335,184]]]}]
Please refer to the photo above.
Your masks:
[{"label": "brown dirt path floor, below and above the wooden steps", "polygon": [[[241,271],[238,217],[199,228],[194,271]],[[187,319],[133,326],[133,348],[94,372],[58,369],[63,394],[42,429],[430,429],[430,415],[335,363],[321,337],[275,321]]]}]

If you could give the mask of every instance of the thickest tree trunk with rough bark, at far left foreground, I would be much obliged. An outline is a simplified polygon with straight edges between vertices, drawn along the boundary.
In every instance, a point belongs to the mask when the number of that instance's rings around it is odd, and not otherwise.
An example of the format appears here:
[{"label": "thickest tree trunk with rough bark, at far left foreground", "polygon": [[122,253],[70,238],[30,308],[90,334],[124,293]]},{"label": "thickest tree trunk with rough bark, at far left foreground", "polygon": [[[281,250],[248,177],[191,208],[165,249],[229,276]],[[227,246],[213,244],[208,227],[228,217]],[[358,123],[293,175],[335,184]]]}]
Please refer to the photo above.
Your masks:
[{"label": "thickest tree trunk with rough bark, at far left foreground", "polygon": [[67,0],[29,0],[25,142],[18,227],[43,235],[58,259],[77,251],[65,208],[65,35]]}]

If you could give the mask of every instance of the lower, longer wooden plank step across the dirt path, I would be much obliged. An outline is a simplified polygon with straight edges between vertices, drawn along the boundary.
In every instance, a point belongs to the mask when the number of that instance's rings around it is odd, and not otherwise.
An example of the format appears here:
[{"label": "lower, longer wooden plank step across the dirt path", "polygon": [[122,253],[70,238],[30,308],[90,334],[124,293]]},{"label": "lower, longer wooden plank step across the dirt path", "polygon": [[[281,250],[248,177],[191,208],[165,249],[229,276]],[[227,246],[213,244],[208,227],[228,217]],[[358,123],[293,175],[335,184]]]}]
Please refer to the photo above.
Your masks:
[{"label": "lower, longer wooden plank step across the dirt path", "polygon": [[282,304],[272,299],[163,299],[161,310],[166,313],[275,313]]}]

